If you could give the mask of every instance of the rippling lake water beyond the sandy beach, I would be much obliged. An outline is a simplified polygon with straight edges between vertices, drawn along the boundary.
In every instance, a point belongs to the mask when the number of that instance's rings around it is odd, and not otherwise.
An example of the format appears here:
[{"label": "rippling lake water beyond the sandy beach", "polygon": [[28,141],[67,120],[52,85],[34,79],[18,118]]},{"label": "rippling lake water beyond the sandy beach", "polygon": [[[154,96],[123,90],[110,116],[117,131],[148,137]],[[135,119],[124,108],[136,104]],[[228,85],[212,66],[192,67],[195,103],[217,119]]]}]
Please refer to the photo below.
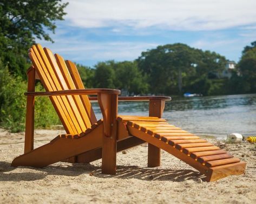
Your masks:
[{"label": "rippling lake water beyond the sandy beach", "polygon": [[[94,104],[97,118],[102,118]],[[120,102],[121,115],[148,115],[147,102]],[[198,135],[226,138],[227,134],[256,134],[256,94],[182,98],[167,101],[163,118]]]}]

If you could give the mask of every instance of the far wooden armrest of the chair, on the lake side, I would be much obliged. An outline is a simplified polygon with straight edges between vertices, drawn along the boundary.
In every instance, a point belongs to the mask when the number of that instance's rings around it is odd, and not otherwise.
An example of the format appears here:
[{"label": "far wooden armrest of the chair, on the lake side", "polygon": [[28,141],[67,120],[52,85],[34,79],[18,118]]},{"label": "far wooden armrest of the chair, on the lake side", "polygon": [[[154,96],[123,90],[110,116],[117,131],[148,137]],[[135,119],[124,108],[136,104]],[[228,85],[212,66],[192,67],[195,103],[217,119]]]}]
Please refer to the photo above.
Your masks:
[{"label": "far wooden armrest of the chair, on the lake side", "polygon": [[[89,97],[90,100],[97,100],[97,97]],[[149,100],[172,100],[167,96],[138,96],[138,97],[118,97],[120,101],[149,101]]]}]

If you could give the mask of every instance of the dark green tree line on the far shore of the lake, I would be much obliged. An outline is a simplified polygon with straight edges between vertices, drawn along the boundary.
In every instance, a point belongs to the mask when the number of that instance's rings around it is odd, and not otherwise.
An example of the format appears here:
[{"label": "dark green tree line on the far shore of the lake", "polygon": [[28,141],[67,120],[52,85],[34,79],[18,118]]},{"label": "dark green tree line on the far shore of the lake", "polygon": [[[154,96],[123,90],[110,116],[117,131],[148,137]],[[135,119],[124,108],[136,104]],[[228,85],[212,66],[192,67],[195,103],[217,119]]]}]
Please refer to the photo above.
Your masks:
[{"label": "dark green tree line on the far shore of the lake", "polygon": [[99,62],[93,68],[77,65],[86,87],[121,89],[124,94],[181,95],[254,93],[256,42],[246,46],[231,77],[221,77],[228,60],[216,52],[186,44],[157,46],[134,61]]}]

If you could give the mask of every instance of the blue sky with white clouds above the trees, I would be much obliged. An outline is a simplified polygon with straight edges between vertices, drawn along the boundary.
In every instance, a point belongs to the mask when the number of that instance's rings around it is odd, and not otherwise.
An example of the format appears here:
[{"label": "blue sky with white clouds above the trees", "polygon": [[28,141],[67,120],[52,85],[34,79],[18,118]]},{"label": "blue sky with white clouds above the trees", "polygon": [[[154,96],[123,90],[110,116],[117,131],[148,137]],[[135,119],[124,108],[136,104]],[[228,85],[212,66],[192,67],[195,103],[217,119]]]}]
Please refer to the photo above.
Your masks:
[{"label": "blue sky with white clouds above the trees", "polygon": [[[63,1],[67,2],[67,1]],[[93,67],[134,60],[158,45],[185,43],[238,62],[256,40],[256,0],[70,0],[55,43],[65,59]]]}]

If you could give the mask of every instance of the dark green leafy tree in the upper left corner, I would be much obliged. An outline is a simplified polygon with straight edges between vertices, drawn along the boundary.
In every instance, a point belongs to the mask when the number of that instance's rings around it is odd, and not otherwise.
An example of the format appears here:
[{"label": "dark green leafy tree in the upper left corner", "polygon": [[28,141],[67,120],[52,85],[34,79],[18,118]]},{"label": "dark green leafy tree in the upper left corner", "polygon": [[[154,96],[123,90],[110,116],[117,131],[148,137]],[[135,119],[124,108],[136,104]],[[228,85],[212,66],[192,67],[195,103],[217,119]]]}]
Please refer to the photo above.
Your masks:
[{"label": "dark green leafy tree in the upper left corner", "polygon": [[11,73],[25,78],[27,50],[35,39],[53,42],[56,20],[63,20],[68,3],[61,0],[2,0],[0,3],[0,59]]}]

